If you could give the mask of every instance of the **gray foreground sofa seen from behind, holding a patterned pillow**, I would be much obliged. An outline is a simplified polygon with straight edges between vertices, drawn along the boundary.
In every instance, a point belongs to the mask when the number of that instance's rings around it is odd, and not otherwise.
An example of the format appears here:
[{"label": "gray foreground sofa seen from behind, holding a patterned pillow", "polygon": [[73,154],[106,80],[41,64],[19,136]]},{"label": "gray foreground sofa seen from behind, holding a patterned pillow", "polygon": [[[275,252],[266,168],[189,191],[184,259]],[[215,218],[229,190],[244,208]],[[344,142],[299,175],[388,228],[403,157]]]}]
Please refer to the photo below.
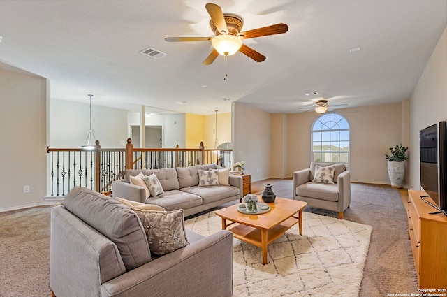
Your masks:
[{"label": "gray foreground sofa seen from behind, holding a patterned pillow", "polygon": [[52,296],[232,296],[233,233],[186,237],[156,258],[133,210],[75,187],[51,210]]}]

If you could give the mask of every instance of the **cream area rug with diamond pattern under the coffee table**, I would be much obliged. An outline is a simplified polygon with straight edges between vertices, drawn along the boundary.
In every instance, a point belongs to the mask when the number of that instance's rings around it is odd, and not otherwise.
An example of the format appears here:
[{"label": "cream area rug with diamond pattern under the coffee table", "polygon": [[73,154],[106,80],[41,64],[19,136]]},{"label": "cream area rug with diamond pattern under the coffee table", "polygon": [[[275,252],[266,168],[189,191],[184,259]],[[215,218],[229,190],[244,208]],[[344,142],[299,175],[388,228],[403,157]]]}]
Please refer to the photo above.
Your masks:
[{"label": "cream area rug with diamond pattern under the coffee table", "polygon": [[[214,212],[188,219],[186,229],[209,236],[221,229]],[[303,212],[298,225],[261,249],[234,239],[234,297],[358,296],[372,226]]]}]

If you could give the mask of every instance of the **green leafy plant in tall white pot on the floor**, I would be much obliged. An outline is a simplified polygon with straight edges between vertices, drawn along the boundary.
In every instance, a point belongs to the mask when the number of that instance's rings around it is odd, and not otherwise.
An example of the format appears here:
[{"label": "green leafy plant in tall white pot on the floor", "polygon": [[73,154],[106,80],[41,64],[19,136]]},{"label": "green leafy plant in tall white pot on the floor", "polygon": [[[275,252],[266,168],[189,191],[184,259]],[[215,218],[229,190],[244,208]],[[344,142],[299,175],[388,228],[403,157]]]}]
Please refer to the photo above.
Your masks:
[{"label": "green leafy plant in tall white pot on the floor", "polygon": [[390,147],[390,154],[385,154],[388,160],[388,176],[390,177],[391,187],[400,189],[404,181],[404,161],[407,159],[406,151],[408,147],[402,144]]}]

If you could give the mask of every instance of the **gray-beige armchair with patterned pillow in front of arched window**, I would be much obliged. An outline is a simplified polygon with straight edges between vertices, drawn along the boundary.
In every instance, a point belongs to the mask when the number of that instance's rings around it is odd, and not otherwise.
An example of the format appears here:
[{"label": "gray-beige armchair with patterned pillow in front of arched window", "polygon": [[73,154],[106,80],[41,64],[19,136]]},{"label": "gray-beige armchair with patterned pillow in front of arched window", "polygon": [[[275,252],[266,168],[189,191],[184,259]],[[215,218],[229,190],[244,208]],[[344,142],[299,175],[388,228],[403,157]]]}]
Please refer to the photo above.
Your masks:
[{"label": "gray-beige armchair with patterned pillow in front of arched window", "polygon": [[[312,182],[316,165],[335,166],[333,184]],[[293,198],[305,201],[313,208],[336,211],[343,219],[343,212],[351,203],[351,173],[346,171],[344,164],[311,163],[310,168],[293,173]]]}]

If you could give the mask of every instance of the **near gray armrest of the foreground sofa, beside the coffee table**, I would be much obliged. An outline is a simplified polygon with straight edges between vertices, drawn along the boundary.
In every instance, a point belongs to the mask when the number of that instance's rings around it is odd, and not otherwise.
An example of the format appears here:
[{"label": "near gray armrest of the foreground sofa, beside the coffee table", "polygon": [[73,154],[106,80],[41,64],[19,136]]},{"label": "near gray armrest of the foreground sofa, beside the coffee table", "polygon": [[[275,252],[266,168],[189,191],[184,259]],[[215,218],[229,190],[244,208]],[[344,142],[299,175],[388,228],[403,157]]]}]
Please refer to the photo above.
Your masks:
[{"label": "near gray armrest of the foreground sofa, beside the coffee table", "polygon": [[105,282],[101,296],[233,294],[233,233],[219,231]]}]

